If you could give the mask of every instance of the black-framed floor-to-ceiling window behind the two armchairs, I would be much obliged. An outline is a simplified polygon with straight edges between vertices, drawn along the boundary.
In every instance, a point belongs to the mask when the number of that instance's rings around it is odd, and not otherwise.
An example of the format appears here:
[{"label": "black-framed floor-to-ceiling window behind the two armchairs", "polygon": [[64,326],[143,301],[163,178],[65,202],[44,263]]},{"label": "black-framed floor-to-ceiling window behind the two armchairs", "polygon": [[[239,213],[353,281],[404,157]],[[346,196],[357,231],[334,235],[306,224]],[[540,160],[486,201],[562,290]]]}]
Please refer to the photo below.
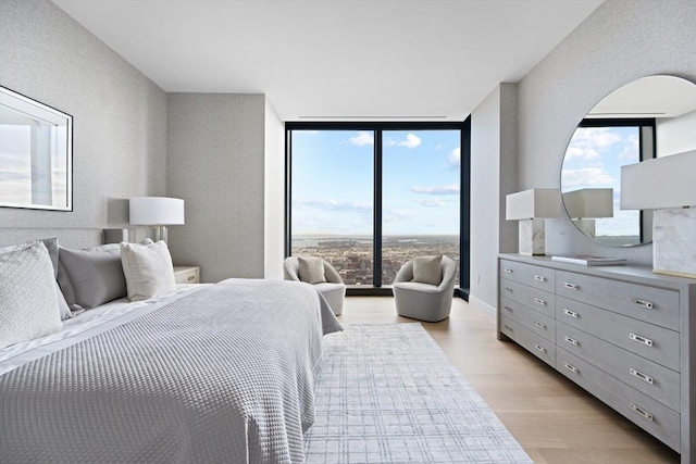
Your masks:
[{"label": "black-framed floor-to-ceiling window behind the two armchairs", "polygon": [[287,123],[286,253],[324,258],[350,291],[390,286],[418,255],[461,268],[464,243],[468,287],[464,127]]}]

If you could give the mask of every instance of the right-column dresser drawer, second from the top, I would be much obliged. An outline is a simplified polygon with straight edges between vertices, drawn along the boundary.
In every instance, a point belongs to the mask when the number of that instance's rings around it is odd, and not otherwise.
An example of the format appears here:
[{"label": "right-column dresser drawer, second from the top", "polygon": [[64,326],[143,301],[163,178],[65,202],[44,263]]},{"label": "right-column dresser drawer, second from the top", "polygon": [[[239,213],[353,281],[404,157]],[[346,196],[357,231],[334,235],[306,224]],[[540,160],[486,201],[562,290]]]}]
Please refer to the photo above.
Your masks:
[{"label": "right-column dresser drawer, second from the top", "polygon": [[556,321],[576,327],[643,358],[680,372],[680,334],[558,297]]}]

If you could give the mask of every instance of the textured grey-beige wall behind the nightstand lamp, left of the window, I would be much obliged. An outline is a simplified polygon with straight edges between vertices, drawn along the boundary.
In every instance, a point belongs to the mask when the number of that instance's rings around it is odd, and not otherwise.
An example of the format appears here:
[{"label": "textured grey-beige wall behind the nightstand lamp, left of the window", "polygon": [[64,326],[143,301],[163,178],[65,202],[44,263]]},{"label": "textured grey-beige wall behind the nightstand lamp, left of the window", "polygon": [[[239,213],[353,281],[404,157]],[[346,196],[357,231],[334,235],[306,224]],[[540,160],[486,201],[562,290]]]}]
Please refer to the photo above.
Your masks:
[{"label": "textured grey-beige wall behind the nightstand lamp, left of the window", "polygon": [[263,277],[264,110],[263,95],[167,95],[166,195],[186,201],[170,248],[202,281]]}]

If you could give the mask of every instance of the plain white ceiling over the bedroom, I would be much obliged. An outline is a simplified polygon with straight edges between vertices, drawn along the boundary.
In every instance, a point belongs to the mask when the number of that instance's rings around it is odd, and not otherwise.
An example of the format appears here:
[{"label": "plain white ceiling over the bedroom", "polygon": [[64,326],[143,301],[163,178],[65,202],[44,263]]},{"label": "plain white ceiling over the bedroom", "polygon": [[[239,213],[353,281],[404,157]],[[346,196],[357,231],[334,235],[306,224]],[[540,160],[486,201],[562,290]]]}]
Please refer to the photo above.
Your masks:
[{"label": "plain white ceiling over the bedroom", "polygon": [[167,92],[284,121],[463,121],[602,0],[53,0]]}]

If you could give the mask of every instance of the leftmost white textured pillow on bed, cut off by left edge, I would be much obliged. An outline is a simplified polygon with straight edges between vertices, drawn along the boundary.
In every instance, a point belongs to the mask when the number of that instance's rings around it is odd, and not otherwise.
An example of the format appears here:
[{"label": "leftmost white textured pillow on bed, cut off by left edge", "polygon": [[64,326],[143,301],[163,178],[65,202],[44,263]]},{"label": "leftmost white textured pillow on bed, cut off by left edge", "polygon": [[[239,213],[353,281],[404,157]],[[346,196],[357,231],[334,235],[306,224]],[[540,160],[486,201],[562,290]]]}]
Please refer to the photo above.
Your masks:
[{"label": "leftmost white textured pillow on bed, cut off by left edge", "polygon": [[55,277],[42,242],[0,254],[0,349],[60,330]]}]

